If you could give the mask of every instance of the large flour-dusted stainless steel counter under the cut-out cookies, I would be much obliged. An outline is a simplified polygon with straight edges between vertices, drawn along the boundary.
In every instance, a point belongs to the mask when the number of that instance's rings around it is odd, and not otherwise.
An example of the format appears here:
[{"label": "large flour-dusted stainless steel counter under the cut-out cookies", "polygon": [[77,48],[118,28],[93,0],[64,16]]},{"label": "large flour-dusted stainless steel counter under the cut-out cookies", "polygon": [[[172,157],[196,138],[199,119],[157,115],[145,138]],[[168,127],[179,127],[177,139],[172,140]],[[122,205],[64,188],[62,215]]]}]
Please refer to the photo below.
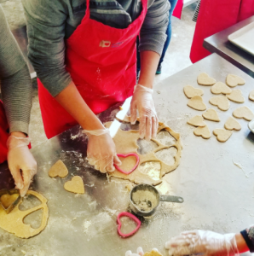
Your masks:
[{"label": "large flour-dusted stainless steel counter under the cut-out cookies", "polygon": [[[205,140],[193,135],[193,126],[187,120],[200,112],[188,108],[188,99],[182,88],[192,84],[205,91],[205,104],[213,96],[210,86],[196,83],[200,72],[224,81],[228,73],[235,73],[246,80],[239,86],[245,96],[245,105],[254,111],[254,102],[247,99],[253,89],[254,79],[214,54],[161,82],[154,91],[154,101],[159,120],[170,125],[182,135],[182,160],[174,172],[163,178],[157,188],[161,193],[180,195],[184,203],[162,202],[152,218],[141,218],[141,230],[135,236],[120,238],[116,219],[119,212],[129,209],[128,182],[107,180],[90,168],[85,160],[86,140],[78,126],[54,137],[32,153],[38,160],[38,175],[32,189],[42,193],[48,200],[49,223],[38,236],[27,240],[17,238],[0,230],[0,255],[50,255],[50,256],[124,256],[126,250],[142,246],[145,251],[158,247],[166,255],[165,241],[182,230],[205,229],[217,232],[238,232],[253,223],[254,217],[254,143],[249,135],[247,122],[240,119],[241,131],[234,131],[226,143],[216,137]],[[206,121],[211,131],[222,127],[234,108],[243,104],[230,102],[227,112],[218,110],[222,121]],[[216,108],[216,107],[214,107]],[[111,109],[112,110],[112,109]],[[110,120],[115,111],[101,114]],[[69,169],[66,178],[50,178],[49,167],[56,160],[63,160]],[[236,166],[234,163],[242,166]],[[0,173],[4,165],[0,167]],[[2,173],[3,174],[3,173]],[[84,179],[85,194],[73,195],[63,189],[72,175]],[[3,177],[2,187],[4,186]],[[0,182],[1,183],[1,182]],[[124,231],[133,227],[124,222]],[[130,231],[130,230],[129,230]]]}]

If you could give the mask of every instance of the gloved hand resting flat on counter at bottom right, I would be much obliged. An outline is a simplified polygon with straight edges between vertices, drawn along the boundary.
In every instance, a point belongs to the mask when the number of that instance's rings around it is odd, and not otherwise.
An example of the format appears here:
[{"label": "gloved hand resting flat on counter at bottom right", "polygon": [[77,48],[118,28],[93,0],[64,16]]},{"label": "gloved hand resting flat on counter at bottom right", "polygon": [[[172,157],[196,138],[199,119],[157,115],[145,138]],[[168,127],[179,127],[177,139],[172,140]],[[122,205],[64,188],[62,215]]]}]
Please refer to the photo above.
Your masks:
[{"label": "gloved hand resting flat on counter at bottom right", "polygon": [[235,234],[221,235],[212,231],[186,231],[167,241],[169,255],[233,256],[240,255]]}]

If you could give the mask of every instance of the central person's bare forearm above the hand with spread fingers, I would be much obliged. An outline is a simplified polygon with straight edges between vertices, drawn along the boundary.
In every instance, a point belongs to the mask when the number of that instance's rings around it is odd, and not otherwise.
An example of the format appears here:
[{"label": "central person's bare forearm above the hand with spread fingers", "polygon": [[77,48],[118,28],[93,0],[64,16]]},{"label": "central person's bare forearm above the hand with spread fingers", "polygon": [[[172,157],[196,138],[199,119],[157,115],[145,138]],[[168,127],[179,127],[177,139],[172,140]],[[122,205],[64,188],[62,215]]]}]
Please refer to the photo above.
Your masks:
[{"label": "central person's bare forearm above the hand with spread fingers", "polygon": [[153,79],[156,73],[156,69],[159,64],[159,54],[145,50],[141,51],[141,74],[138,84],[147,86],[148,88],[153,88]]}]

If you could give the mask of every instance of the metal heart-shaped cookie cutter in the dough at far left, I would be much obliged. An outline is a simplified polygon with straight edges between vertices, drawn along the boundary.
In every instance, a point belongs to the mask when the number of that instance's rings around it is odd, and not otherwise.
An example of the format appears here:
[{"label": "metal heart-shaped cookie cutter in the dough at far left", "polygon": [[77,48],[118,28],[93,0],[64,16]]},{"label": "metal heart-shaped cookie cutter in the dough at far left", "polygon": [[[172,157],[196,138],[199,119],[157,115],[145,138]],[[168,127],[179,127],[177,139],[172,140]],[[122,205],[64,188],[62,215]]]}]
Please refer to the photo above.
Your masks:
[{"label": "metal heart-shaped cookie cutter in the dough at far left", "polygon": [[[14,196],[16,195],[16,196]],[[9,198],[12,198],[12,202],[9,204]],[[19,189],[1,189],[0,190],[0,205],[3,207],[3,210],[9,214],[14,207],[20,202],[20,190]]]}]

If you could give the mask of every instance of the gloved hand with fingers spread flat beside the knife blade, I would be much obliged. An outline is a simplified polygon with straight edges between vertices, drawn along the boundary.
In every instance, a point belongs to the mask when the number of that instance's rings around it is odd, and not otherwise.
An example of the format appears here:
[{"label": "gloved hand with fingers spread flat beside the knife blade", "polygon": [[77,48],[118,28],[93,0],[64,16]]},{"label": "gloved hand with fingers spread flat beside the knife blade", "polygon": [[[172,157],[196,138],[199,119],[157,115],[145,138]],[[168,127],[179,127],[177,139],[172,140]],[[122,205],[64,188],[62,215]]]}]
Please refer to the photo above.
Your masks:
[{"label": "gloved hand with fingers spread flat beside the knife blade", "polygon": [[136,123],[136,111],[138,110],[140,117],[139,134],[141,138],[145,137],[147,141],[151,137],[156,137],[159,124],[152,94],[152,89],[137,84],[134,87],[134,93],[130,103],[130,123],[132,125]]}]

